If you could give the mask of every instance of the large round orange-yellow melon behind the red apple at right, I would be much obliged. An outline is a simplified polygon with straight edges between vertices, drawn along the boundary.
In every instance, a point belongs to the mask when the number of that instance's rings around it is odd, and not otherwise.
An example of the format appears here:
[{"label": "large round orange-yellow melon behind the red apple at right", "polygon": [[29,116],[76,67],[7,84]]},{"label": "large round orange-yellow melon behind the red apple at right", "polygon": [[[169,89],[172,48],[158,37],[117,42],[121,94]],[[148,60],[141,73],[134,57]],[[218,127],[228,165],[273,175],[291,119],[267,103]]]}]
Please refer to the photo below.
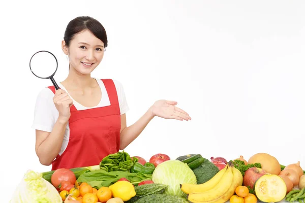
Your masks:
[{"label": "large round orange-yellow melon behind the red apple at right", "polygon": [[257,153],[250,157],[248,164],[260,163],[262,170],[268,174],[279,175],[281,173],[281,164],[278,159],[267,153]]}]

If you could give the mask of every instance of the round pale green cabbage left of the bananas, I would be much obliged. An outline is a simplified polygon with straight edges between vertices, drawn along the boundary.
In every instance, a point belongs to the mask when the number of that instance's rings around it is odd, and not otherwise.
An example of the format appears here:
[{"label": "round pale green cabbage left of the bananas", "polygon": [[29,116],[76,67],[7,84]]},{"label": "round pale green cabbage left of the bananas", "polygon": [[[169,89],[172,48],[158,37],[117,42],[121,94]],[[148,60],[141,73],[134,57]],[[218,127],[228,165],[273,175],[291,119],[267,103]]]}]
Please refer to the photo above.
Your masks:
[{"label": "round pale green cabbage left of the bananas", "polygon": [[186,197],[187,194],[180,189],[180,184],[197,184],[196,176],[187,163],[179,160],[168,160],[157,165],[151,180],[154,183],[168,185],[166,194]]}]

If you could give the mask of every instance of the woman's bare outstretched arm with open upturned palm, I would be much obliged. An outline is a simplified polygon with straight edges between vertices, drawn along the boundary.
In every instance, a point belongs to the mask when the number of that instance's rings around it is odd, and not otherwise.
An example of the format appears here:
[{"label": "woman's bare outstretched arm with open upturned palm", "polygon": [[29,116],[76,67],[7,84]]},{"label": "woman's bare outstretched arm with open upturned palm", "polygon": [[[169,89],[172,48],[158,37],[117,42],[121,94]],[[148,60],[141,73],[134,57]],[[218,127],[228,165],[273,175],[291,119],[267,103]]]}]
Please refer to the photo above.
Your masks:
[{"label": "woman's bare outstretched arm with open upturned palm", "polygon": [[158,100],[133,125],[126,127],[126,115],[121,115],[120,150],[124,150],[144,130],[155,116],[165,119],[190,120],[189,114],[177,107],[176,101]]}]

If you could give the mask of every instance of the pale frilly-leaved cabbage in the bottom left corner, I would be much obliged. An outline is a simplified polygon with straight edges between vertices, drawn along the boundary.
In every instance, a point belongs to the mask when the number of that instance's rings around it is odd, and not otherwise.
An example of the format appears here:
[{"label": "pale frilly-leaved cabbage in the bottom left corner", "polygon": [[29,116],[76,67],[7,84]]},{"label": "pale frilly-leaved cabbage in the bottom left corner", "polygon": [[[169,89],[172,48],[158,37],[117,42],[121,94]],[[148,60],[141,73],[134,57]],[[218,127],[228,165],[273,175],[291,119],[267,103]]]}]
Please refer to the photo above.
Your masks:
[{"label": "pale frilly-leaved cabbage in the bottom left corner", "polygon": [[17,186],[10,203],[63,203],[55,187],[41,173],[27,171]]}]

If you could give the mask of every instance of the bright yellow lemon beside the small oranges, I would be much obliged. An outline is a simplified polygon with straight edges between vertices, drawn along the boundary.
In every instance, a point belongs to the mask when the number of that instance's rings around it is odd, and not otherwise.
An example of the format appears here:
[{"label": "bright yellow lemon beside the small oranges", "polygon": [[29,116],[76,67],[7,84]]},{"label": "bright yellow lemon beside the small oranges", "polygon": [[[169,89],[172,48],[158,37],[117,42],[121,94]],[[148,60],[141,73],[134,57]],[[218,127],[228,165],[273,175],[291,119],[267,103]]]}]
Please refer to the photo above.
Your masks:
[{"label": "bright yellow lemon beside the small oranges", "polygon": [[109,186],[113,197],[119,197],[123,201],[128,201],[131,197],[136,195],[133,184],[128,181],[118,181]]}]

